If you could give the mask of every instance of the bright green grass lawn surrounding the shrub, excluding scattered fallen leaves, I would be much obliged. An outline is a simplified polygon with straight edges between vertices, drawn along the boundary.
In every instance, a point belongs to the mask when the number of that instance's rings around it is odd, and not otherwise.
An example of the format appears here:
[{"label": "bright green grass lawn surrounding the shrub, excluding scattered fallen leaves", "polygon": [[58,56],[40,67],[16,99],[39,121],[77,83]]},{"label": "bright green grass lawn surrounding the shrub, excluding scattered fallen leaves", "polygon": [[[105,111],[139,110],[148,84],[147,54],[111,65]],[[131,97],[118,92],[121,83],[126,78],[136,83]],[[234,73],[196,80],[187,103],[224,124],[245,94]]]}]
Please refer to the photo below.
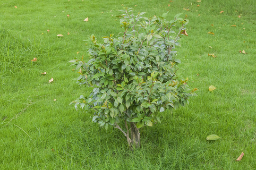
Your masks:
[{"label": "bright green grass lawn surrounding the shrub, excluding scattered fallen leaves", "polygon": [[[89,35],[122,31],[122,4],[145,17],[187,15],[179,75],[198,89],[188,106],[144,127],[134,152],[118,129],[68,105],[91,90],[68,61],[88,58]],[[255,0],[0,0],[0,14],[1,170],[256,169]],[[221,138],[206,141],[211,134]]]}]

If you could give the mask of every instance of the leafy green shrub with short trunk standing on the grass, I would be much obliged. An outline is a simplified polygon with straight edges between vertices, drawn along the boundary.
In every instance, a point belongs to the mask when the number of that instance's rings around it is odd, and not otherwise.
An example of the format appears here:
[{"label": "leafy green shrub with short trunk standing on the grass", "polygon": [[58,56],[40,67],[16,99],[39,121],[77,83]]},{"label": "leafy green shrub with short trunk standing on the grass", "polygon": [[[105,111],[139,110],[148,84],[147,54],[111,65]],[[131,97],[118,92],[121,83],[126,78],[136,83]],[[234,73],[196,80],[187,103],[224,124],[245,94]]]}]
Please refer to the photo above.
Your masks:
[{"label": "leafy green shrub with short trunk standing on the grass", "polygon": [[188,78],[176,75],[180,60],[175,46],[180,36],[188,35],[188,19],[178,14],[168,21],[168,13],[147,18],[145,12],[121,11],[117,17],[123,32],[105,36],[102,42],[91,35],[90,60],[70,61],[79,70],[78,83],[93,87],[89,96],[81,95],[71,104],[91,110],[93,122],[118,128],[128,146],[139,147],[142,127],[160,122],[160,112],[185,106],[195,95]]}]

